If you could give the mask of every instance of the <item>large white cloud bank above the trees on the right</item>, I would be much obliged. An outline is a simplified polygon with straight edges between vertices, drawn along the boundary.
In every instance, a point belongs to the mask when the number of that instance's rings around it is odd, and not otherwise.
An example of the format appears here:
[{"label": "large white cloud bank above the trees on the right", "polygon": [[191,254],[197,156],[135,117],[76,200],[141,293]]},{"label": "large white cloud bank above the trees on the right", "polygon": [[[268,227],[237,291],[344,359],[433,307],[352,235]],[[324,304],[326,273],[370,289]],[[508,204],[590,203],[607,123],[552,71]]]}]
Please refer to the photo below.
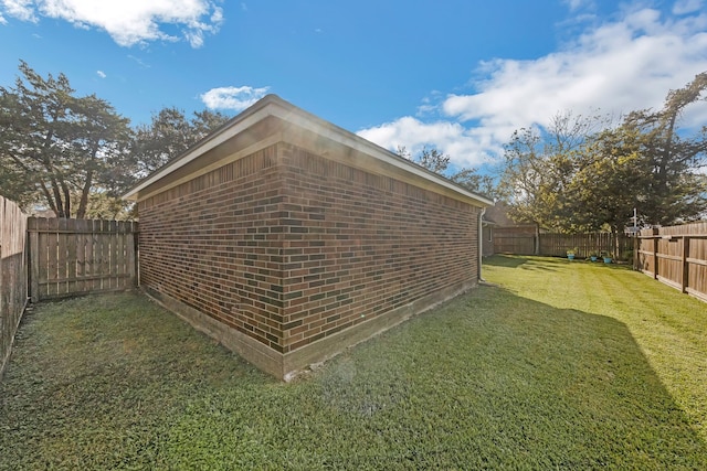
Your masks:
[{"label": "large white cloud bank above the trees on the right", "polygon": [[[661,108],[669,89],[704,71],[706,13],[664,18],[652,9],[624,10],[620,20],[591,26],[552,54],[478,64],[474,76],[484,78],[474,82],[474,93],[446,96],[435,122],[403,117],[359,133],[388,149],[426,142],[457,164],[478,165],[499,156],[514,129],[544,126],[564,110],[619,116]],[[430,110],[429,103],[422,107]],[[707,103],[695,104],[685,124],[703,125],[706,116]]]}]

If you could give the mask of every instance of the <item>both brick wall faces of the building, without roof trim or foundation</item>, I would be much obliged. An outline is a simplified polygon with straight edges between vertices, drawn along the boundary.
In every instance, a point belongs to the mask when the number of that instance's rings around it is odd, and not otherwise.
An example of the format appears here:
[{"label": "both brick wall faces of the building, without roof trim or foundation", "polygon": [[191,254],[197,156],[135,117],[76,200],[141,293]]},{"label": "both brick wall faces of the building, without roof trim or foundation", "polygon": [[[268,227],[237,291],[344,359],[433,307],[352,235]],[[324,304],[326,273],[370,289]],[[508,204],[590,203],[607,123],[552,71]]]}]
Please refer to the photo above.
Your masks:
[{"label": "both brick wall faces of the building, without roof trim or foundation", "polygon": [[141,283],[287,353],[475,282],[478,211],[281,143],[139,203]]}]

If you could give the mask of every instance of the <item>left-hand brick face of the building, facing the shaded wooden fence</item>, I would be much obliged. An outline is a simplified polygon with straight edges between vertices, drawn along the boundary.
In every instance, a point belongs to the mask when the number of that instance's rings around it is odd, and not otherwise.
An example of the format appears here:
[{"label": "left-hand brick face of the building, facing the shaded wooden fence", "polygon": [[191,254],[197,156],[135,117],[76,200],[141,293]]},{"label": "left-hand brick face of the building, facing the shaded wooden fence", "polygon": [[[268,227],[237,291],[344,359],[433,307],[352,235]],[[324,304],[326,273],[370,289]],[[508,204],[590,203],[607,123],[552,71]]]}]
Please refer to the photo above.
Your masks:
[{"label": "left-hand brick face of the building, facing the shaded wooden fence", "polygon": [[276,147],[139,203],[140,283],[279,352]]}]

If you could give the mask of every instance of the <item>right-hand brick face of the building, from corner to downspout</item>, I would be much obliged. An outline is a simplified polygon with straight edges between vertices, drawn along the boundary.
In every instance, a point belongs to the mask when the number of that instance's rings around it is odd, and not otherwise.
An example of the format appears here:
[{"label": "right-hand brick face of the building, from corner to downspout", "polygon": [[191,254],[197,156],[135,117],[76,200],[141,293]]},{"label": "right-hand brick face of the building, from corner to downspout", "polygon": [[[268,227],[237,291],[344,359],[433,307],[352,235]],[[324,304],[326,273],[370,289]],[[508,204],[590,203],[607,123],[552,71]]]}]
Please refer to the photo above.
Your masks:
[{"label": "right-hand brick face of the building, from corner to downspout", "polygon": [[294,147],[282,157],[285,352],[477,280],[478,208]]}]

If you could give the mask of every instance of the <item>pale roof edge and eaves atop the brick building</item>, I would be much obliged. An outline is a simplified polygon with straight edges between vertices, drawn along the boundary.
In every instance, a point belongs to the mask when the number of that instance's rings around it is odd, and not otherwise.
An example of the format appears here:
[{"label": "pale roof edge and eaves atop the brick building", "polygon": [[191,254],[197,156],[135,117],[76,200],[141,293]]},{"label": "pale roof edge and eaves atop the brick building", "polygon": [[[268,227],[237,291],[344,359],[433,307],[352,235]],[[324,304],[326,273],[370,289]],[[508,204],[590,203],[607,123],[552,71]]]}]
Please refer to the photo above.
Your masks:
[{"label": "pale roof edge and eaves atop the brick building", "polygon": [[[263,142],[275,143],[284,136],[316,137],[317,142],[346,148],[350,156],[347,164],[363,170],[376,168],[377,173],[390,174],[402,180],[434,189],[451,197],[475,206],[490,206],[487,197],[469,192],[451,180],[404,159],[360,136],[325,121],[276,95],[267,95],[240,115],[177,156],[150,175],[139,181],[123,197],[140,201],[166,189],[172,188],[196,175],[222,167],[230,161],[253,152],[253,146]],[[239,141],[239,142],[236,142]],[[229,146],[231,143],[231,146]],[[326,147],[326,146],[325,146]],[[209,156],[208,158],[205,156]],[[331,152],[330,156],[335,156]]]}]

